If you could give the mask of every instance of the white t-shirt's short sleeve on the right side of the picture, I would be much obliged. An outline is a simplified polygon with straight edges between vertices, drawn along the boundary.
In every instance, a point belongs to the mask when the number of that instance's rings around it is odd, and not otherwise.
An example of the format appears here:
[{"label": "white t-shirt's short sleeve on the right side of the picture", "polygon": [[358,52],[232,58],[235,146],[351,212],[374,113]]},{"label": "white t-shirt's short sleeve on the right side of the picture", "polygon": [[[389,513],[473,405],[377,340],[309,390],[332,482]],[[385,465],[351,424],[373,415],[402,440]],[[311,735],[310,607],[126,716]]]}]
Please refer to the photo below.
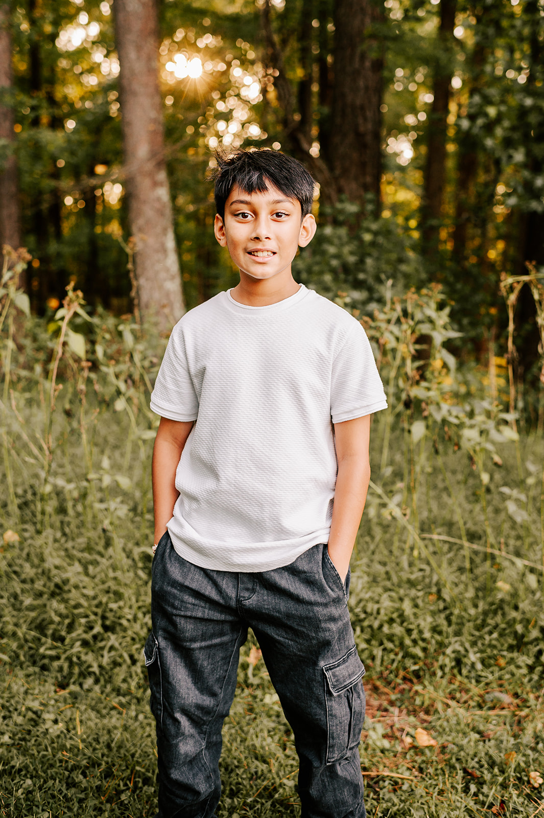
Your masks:
[{"label": "white t-shirt's short sleeve on the right side of the picture", "polygon": [[332,362],[332,423],[372,415],[387,408],[370,341],[359,321]]}]

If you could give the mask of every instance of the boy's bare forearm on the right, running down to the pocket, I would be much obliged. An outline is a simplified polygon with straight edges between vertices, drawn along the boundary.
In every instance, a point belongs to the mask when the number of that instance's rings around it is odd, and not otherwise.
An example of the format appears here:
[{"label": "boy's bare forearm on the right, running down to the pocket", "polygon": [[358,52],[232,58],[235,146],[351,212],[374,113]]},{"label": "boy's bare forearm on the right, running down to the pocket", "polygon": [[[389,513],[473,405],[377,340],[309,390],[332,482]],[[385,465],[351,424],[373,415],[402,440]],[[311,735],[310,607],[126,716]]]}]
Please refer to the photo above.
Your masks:
[{"label": "boy's bare forearm on the right, running down to the pocket", "polygon": [[355,537],[363,515],[370,482],[370,464],[358,456],[338,464],[328,553],[342,580],[350,567]]}]

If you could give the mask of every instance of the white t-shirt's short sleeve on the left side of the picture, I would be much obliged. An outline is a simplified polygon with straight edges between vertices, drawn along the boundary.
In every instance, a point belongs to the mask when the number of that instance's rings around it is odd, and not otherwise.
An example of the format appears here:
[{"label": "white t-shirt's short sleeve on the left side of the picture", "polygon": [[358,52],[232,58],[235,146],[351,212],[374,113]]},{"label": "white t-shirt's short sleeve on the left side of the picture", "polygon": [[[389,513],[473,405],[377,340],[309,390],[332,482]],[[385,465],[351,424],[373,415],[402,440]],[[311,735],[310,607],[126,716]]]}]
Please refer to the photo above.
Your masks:
[{"label": "white t-shirt's short sleeve on the left side of the picture", "polygon": [[168,340],[149,406],[168,420],[197,419],[198,397],[187,364],[183,335],[176,327]]}]

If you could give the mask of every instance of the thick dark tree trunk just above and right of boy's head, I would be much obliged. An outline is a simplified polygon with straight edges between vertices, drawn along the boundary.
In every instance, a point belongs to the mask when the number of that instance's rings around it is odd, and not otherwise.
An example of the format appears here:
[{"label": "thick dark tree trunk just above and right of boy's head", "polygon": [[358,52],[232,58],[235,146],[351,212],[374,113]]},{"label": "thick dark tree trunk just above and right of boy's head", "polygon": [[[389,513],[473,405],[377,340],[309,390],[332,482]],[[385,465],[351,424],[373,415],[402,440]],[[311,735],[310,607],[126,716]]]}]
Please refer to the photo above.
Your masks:
[{"label": "thick dark tree trunk just above and right of boy's head", "polygon": [[372,36],[375,0],[336,0],[334,82],[328,165],[337,195],[363,205],[380,199],[383,47]]}]

